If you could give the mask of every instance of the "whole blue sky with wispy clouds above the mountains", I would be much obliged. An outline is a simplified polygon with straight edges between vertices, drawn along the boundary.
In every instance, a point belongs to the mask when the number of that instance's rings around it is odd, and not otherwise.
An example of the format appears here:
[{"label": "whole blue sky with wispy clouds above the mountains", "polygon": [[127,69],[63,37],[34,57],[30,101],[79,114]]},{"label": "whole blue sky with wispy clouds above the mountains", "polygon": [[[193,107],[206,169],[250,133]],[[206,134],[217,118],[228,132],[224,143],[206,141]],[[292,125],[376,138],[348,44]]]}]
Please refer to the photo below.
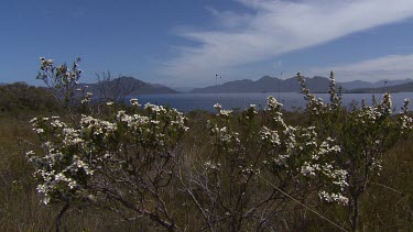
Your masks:
[{"label": "whole blue sky with wispy clouds above the mountains", "polygon": [[85,82],[413,78],[412,0],[2,0],[0,29],[0,82],[40,85],[41,56],[81,57]]}]

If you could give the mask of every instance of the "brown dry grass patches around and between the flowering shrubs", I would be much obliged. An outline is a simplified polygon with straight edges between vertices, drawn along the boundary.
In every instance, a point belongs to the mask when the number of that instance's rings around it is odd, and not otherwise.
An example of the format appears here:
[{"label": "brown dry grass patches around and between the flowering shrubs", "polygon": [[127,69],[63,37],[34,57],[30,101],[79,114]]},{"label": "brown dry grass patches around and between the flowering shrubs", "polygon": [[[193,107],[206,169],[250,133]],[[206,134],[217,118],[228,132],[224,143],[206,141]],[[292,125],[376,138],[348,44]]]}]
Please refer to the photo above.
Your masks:
[{"label": "brown dry grass patches around and between the flowering shrubs", "polygon": [[[301,121],[293,113],[294,121]],[[209,155],[211,145],[205,131],[210,118],[205,112],[192,112],[191,131],[180,144],[188,164],[199,156]],[[0,230],[1,231],[50,231],[55,230],[55,218],[62,206],[45,207],[40,203],[32,178],[33,168],[28,163],[25,151],[35,148],[36,134],[24,119],[0,118]],[[413,139],[400,141],[385,156],[380,178],[372,179],[362,197],[360,231],[412,231],[413,230]],[[316,202],[316,201],[314,201]],[[173,201],[171,202],[173,203]],[[294,205],[294,203],[293,203]],[[176,208],[181,206],[175,206]],[[309,207],[343,228],[349,228],[347,213],[340,206],[309,205]],[[283,213],[285,231],[336,230],[319,216],[297,205],[295,210]],[[186,214],[197,214],[196,209],[186,209]],[[199,219],[200,220],[200,219]],[[191,223],[196,224],[195,218]],[[96,208],[69,209],[62,220],[67,231],[137,231],[161,230],[148,220],[124,221]],[[196,228],[196,225],[195,225]]]}]

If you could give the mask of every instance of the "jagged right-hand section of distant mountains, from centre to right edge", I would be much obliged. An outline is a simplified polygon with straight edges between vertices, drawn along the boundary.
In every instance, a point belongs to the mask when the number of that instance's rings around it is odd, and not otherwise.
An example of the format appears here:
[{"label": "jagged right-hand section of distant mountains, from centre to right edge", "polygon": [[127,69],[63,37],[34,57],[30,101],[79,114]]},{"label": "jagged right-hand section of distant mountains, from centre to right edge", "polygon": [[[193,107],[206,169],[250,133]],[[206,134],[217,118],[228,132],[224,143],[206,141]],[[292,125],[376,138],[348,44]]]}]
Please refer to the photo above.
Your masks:
[{"label": "jagged right-hand section of distant mountains, from centre to right edge", "polygon": [[[315,76],[305,77],[307,87],[312,92],[327,92],[329,79],[326,77]],[[355,80],[349,82],[337,82],[337,88],[341,87],[343,92],[382,92],[382,91],[413,91],[409,88],[413,79],[404,80],[380,80],[377,82],[367,82]],[[389,88],[389,87],[395,88]],[[228,81],[222,85],[196,88],[194,93],[218,93],[218,92],[301,92],[301,86],[297,77],[280,79],[276,77],[264,76],[256,81],[250,79]]]}]

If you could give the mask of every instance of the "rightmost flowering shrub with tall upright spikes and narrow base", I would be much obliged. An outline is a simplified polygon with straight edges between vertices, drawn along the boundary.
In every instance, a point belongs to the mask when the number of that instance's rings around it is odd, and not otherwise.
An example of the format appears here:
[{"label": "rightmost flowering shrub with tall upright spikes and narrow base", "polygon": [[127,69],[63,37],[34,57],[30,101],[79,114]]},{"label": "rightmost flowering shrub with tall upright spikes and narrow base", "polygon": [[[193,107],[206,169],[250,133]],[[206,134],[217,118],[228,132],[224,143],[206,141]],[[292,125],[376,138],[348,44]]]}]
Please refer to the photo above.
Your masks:
[{"label": "rightmost flowering shrub with tall upright spikes and narrow base", "polygon": [[307,100],[306,112],[309,114],[308,126],[314,126],[318,136],[333,137],[340,147],[336,155],[338,166],[347,172],[348,187],[343,194],[349,199],[351,229],[357,229],[359,200],[370,178],[381,170],[382,157],[394,143],[409,135],[413,129],[409,117],[409,99],[402,111],[393,115],[390,93],[383,95],[378,103],[374,96],[372,106],[362,102],[351,111],[341,106],[341,93],[336,92],[334,73],[330,73],[329,103],[315,100],[305,86],[305,79],[297,74],[302,91]]}]

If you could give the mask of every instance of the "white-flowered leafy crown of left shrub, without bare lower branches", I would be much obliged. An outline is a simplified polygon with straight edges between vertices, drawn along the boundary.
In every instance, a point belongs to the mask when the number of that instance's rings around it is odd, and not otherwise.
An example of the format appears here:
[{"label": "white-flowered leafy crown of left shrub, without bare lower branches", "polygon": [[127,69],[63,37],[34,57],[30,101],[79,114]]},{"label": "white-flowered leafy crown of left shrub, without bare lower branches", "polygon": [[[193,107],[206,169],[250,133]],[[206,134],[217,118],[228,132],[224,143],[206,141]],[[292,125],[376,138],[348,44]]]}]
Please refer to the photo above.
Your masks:
[{"label": "white-flowered leafy crown of left shrub, without bare lower branches", "polygon": [[138,143],[145,151],[172,150],[180,134],[187,130],[185,117],[175,109],[154,104],[145,108],[146,115],[119,111],[113,122],[81,115],[77,128],[68,126],[58,117],[31,120],[33,130],[44,141],[44,155],[26,153],[35,165],[34,176],[40,180],[37,191],[43,194],[43,202],[84,196],[89,179],[105,165],[128,168],[119,158],[124,153],[122,147]]}]

